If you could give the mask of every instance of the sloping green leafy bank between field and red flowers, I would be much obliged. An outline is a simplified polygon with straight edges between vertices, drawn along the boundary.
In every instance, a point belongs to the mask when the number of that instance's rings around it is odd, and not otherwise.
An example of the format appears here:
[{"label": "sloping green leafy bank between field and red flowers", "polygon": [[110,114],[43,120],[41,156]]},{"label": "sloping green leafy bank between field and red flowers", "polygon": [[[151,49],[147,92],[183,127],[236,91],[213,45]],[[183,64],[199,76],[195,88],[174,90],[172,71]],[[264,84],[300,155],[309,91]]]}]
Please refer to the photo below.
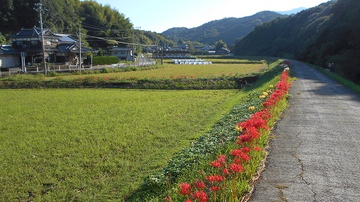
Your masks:
[{"label": "sloping green leafy bank between field and red flowers", "polygon": [[[223,152],[229,153],[233,148],[233,142],[238,135],[234,130],[236,123],[245,121],[251,116],[253,112],[248,107],[255,106],[256,110],[261,107],[264,100],[260,99],[259,95],[278,82],[278,75],[281,72],[283,72],[282,68],[274,68],[262,74],[250,88],[241,90],[238,104],[234,105],[228,114],[221,117],[221,120],[199,140],[193,142],[191,147],[186,147],[177,153],[165,168],[147,177],[143,187],[127,198],[127,201],[163,201],[168,194],[172,195],[179,191],[179,183],[193,182],[199,175],[203,175],[199,170],[208,169],[208,163],[214,161],[215,156]],[[264,140],[263,144],[266,144],[266,141]],[[257,163],[261,160],[257,160]],[[253,168],[258,168],[258,164]],[[257,169],[253,170],[255,171]],[[165,179],[168,178],[167,176],[173,178],[172,182],[167,182]]]}]

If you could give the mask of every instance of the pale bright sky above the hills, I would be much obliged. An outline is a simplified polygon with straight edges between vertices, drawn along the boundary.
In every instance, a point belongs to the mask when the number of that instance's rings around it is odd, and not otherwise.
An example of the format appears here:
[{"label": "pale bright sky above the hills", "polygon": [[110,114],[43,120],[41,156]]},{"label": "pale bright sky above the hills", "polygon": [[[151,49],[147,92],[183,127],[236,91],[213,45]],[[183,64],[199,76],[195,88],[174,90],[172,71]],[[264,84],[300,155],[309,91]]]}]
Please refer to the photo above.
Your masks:
[{"label": "pale bright sky above the hills", "polygon": [[223,18],[243,18],[260,11],[311,8],[329,0],[95,0],[129,18],[135,29],[164,32],[172,27],[193,28]]}]

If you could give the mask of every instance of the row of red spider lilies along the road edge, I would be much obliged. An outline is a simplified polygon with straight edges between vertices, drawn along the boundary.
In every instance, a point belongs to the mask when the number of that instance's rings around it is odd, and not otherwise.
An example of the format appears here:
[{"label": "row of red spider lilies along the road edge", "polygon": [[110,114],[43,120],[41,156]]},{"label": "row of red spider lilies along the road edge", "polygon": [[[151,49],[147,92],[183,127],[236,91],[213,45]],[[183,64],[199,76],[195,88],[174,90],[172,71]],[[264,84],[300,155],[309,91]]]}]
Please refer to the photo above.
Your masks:
[{"label": "row of red spider lilies along the road edge", "polygon": [[[195,182],[183,182],[179,185],[179,194],[184,196],[186,202],[200,201],[207,202],[210,198],[213,201],[224,200],[226,194],[224,190],[231,181],[231,201],[236,201],[238,196],[235,196],[236,180],[241,180],[244,175],[247,175],[249,162],[255,156],[261,155],[262,148],[257,147],[257,141],[263,134],[269,131],[268,121],[271,119],[271,109],[276,107],[280,100],[288,93],[290,88],[288,69],[284,70],[280,76],[280,81],[276,84],[274,90],[268,90],[271,94],[265,97],[266,100],[262,103],[262,109],[255,114],[252,114],[250,119],[238,123],[236,130],[239,135],[236,140],[238,148],[233,149],[227,156],[221,154],[216,161],[212,161],[210,166],[214,173],[212,175],[205,175],[203,180],[195,180]],[[264,97],[267,93],[263,93],[260,97]],[[252,107],[251,109],[253,109]],[[249,107],[250,109],[250,107]],[[226,185],[228,184],[228,185]],[[222,191],[222,192],[221,192]],[[171,196],[167,196],[165,201],[172,201]]]}]

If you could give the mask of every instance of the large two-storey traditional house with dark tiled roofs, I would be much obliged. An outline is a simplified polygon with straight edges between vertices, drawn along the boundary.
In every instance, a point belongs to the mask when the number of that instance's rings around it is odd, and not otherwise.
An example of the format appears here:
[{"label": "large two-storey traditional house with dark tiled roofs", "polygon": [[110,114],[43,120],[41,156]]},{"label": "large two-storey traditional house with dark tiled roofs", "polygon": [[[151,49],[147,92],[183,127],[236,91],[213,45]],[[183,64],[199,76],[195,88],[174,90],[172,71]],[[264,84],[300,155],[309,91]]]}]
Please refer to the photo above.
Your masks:
[{"label": "large two-storey traditional house with dark tiled roofs", "polygon": [[[10,36],[11,47],[23,53],[25,65],[32,66],[43,60],[41,38],[44,36],[44,52],[46,62],[57,65],[75,64],[79,55],[79,41],[68,34],[55,34],[48,29],[36,27],[21,29],[17,34]],[[82,47],[82,53],[96,52]],[[19,55],[20,56],[20,55]]]}]

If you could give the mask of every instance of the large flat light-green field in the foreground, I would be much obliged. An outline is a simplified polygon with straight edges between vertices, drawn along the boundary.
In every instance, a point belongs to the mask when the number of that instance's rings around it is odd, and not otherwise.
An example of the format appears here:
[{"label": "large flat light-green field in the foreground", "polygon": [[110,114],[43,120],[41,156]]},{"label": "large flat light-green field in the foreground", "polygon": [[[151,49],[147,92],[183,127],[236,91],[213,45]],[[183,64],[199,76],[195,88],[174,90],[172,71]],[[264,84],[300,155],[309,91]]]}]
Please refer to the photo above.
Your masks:
[{"label": "large flat light-green field in the foreground", "polygon": [[122,201],[237,90],[0,90],[0,201]]}]

